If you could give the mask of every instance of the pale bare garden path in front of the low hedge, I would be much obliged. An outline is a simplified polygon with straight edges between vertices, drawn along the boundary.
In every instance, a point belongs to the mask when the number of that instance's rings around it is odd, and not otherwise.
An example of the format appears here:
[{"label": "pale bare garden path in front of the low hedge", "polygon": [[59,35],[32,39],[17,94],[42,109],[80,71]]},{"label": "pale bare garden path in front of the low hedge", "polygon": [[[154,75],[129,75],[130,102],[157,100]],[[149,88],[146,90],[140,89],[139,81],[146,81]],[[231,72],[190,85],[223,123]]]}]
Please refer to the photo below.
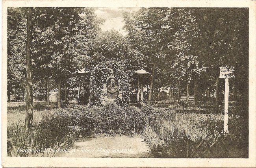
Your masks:
[{"label": "pale bare garden path in front of the low hedge", "polygon": [[98,136],[75,142],[68,152],[56,153],[55,157],[152,157],[150,149],[140,135]]}]

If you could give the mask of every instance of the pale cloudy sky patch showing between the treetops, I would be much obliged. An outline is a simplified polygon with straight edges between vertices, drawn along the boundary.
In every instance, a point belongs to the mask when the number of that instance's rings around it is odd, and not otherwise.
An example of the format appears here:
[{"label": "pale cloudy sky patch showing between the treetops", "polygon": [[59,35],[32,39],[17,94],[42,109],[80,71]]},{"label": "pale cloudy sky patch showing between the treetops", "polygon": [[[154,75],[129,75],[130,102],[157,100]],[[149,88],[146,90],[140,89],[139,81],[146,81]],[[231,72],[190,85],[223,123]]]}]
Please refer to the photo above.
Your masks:
[{"label": "pale cloudy sky patch showing between the treetops", "polygon": [[114,29],[122,35],[126,35],[125,30],[122,30],[124,26],[122,13],[138,10],[139,7],[98,7],[95,8],[95,15],[105,20],[103,25],[100,26],[102,31]]}]

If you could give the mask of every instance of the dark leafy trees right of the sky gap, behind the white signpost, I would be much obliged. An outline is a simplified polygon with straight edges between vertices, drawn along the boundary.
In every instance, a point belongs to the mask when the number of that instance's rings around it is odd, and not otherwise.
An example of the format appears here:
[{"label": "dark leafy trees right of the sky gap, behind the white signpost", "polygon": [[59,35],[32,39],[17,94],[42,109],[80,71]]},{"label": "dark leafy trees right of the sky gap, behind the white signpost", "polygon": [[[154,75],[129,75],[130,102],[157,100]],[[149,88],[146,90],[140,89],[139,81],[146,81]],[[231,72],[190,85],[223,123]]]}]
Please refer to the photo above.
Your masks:
[{"label": "dark leafy trees right of the sky gap, behind the white signpost", "polygon": [[219,67],[228,65],[235,69],[232,89],[248,101],[247,8],[142,8],[124,17],[126,38],[143,53],[147,70],[152,73],[156,65],[156,86],[179,88],[182,81],[194,86],[195,98],[214,92],[218,105]]}]

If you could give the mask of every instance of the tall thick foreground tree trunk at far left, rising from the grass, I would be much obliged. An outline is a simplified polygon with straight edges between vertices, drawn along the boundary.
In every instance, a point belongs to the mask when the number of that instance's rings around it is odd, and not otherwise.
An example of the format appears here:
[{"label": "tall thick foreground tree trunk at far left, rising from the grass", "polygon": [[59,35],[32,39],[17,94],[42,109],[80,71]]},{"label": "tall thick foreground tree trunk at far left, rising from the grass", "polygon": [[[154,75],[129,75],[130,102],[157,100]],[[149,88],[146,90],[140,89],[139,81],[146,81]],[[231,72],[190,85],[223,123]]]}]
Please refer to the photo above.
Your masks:
[{"label": "tall thick foreground tree trunk at far left, rising from the grass", "polygon": [[25,127],[29,130],[33,126],[33,88],[32,88],[32,11],[33,7],[27,9],[27,41],[26,41],[26,119]]}]

